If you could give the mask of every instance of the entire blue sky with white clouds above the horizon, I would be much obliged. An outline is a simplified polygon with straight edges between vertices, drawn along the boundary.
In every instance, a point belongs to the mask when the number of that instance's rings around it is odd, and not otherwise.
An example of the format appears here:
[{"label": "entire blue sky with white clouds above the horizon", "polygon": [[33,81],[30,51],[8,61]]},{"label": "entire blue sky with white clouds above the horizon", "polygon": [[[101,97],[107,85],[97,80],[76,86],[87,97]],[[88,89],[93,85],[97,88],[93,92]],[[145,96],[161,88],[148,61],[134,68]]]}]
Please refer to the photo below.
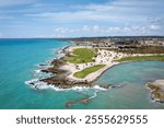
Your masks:
[{"label": "entire blue sky with white clouds above the horizon", "polygon": [[164,0],[0,0],[0,38],[164,35]]}]

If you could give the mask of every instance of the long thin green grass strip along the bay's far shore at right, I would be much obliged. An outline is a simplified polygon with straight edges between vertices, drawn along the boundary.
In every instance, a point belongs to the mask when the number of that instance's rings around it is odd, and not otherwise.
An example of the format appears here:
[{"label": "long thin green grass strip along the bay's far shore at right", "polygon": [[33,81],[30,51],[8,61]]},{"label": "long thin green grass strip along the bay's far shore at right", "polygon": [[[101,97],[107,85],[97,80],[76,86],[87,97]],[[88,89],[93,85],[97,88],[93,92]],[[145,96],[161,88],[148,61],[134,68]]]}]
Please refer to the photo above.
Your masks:
[{"label": "long thin green grass strip along the bay's far shore at right", "polygon": [[119,59],[119,62],[124,61],[164,61],[164,55],[156,55],[156,56],[136,56],[136,57],[124,57]]}]

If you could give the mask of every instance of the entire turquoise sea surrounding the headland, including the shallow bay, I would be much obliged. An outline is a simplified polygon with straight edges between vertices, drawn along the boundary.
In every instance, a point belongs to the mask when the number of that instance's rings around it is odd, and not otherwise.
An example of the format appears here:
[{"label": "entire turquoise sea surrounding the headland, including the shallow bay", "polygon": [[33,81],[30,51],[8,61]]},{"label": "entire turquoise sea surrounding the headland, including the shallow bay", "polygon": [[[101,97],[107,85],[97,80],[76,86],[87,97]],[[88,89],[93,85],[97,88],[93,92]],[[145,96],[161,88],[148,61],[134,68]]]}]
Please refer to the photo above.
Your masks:
[{"label": "entire turquoise sea surrounding the headland, including the shallow bay", "polygon": [[[144,61],[115,66],[94,82],[93,89],[55,90],[44,84],[35,90],[26,84],[47,74],[39,72],[61,48],[72,45],[55,39],[0,39],[0,108],[1,109],[59,109],[66,103],[90,95],[87,104],[77,103],[70,109],[152,108],[164,104],[150,98],[145,83],[164,79],[164,62]],[[39,65],[43,66],[39,66]],[[50,75],[50,74],[48,74]],[[112,83],[103,90],[98,84]]]}]

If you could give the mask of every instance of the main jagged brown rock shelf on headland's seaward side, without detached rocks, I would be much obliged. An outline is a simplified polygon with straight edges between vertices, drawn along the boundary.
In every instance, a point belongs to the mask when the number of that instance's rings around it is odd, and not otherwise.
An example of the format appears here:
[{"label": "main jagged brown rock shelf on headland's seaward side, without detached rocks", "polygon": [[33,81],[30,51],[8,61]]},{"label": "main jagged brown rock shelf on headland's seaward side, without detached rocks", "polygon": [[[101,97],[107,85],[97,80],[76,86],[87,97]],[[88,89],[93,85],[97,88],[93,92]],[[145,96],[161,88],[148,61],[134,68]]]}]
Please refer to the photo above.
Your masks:
[{"label": "main jagged brown rock shelf on headland's seaward side, without detached rocks", "polygon": [[84,81],[84,82],[79,82],[79,81],[72,81],[67,79],[67,75],[70,73],[68,70],[61,69],[60,67],[66,65],[63,58],[60,59],[55,59],[50,63],[52,67],[48,69],[42,70],[43,72],[46,73],[52,73],[54,77],[51,78],[46,78],[42,79],[40,81],[46,82],[47,84],[52,84],[57,88],[61,89],[70,89],[73,86],[85,86],[85,88],[91,88],[91,83]]}]

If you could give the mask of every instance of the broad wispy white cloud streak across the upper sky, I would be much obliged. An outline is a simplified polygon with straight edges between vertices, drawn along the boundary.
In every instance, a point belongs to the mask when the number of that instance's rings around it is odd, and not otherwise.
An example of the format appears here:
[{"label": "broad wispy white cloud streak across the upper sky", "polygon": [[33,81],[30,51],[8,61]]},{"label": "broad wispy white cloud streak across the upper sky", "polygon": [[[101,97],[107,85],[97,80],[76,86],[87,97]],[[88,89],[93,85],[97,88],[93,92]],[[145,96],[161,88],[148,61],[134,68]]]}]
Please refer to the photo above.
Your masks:
[{"label": "broad wispy white cloud streak across the upper sky", "polygon": [[[159,2],[160,1],[160,2]],[[27,14],[28,16],[51,19],[56,21],[133,21],[143,22],[156,13],[163,14],[162,0],[117,0],[104,4],[86,4],[74,7],[77,11],[43,12]]]}]

